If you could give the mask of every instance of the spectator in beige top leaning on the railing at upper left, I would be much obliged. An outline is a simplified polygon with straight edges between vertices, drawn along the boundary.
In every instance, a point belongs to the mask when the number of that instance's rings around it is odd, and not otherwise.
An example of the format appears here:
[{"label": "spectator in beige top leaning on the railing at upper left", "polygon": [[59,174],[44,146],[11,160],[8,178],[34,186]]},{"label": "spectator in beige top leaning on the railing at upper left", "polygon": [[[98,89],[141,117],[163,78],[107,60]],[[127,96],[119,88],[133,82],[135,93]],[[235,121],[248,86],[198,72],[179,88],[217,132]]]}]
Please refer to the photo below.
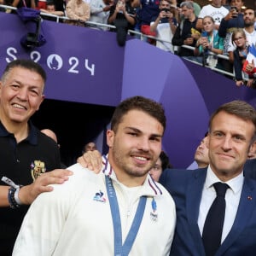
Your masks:
[{"label": "spectator in beige top leaning on the railing at upper left", "polygon": [[69,0],[66,7],[67,24],[85,26],[85,21],[90,19],[90,5],[83,0]]}]

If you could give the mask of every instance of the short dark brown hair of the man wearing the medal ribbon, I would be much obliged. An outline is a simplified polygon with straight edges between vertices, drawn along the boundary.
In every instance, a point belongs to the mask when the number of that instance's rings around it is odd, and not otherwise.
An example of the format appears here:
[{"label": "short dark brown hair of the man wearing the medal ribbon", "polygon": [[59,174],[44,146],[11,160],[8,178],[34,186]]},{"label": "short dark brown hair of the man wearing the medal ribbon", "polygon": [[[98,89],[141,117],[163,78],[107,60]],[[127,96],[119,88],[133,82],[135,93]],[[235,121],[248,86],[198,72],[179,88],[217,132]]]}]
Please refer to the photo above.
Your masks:
[{"label": "short dark brown hair of the man wearing the medal ribbon", "polygon": [[164,131],[166,130],[166,115],[162,105],[143,96],[133,96],[119,103],[113,112],[111,130],[117,131],[118,125],[122,122],[125,113],[128,113],[133,109],[142,110],[143,112],[148,113],[160,122]]}]

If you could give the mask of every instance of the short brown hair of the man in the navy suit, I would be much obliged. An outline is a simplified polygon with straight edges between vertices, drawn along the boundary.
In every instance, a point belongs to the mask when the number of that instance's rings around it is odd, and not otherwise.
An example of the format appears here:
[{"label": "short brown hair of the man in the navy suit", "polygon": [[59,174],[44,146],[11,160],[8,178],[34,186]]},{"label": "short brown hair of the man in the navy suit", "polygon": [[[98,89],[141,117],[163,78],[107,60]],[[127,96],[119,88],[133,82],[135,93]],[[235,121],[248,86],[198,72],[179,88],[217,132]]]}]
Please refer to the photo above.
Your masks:
[{"label": "short brown hair of the man in the navy suit", "polygon": [[254,135],[253,135],[253,141],[256,139],[256,110],[249,103],[244,102],[244,101],[239,101],[239,100],[224,103],[219,108],[217,108],[217,110],[215,110],[214,113],[212,113],[210,121],[209,121],[209,131],[210,132],[212,129],[212,119],[214,119],[214,117],[222,111],[225,113],[234,114],[243,120],[252,121],[254,128],[255,128]]}]

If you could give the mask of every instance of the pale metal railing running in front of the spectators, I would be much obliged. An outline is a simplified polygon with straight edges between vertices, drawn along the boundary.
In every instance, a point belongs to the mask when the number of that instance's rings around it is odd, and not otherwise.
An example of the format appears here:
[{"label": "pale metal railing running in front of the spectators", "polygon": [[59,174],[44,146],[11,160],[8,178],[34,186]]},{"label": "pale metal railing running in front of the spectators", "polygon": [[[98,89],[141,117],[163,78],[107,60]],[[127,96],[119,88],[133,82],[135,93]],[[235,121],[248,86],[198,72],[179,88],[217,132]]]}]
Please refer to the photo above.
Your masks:
[{"label": "pale metal railing running in front of the spectators", "polygon": [[[9,12],[11,10],[16,10],[15,7],[12,7],[12,6],[9,6],[9,5],[3,5],[3,4],[0,4],[0,8],[2,9],[6,9],[6,10],[9,10]],[[8,11],[7,11],[8,12]],[[67,16],[57,16],[57,15],[51,15],[51,14],[47,14],[47,13],[44,13],[44,12],[41,12],[40,15],[43,17],[43,20],[44,20],[44,16],[45,17],[52,17],[52,18],[55,18],[55,22],[60,22],[61,20],[65,22],[65,20],[70,20],[69,18],[67,18]],[[97,28],[99,30],[102,30],[102,27],[107,27],[107,28],[115,28],[115,26],[112,26],[112,25],[108,25],[108,24],[103,24],[103,23],[97,23],[97,22],[93,22],[93,21],[85,21],[84,22],[84,26],[87,26],[87,27],[91,27],[91,28]],[[137,31],[134,31],[134,30],[128,30],[128,34],[132,34],[132,35],[136,35],[137,38],[139,38],[140,40],[144,41],[146,38],[151,38],[151,39],[154,39],[156,41],[160,41],[160,42],[164,42],[164,43],[169,43],[169,44],[172,44],[171,41],[167,41],[167,40],[162,40],[160,38],[155,38],[155,37],[152,37],[152,36],[148,36],[148,35],[145,35],[143,34],[142,32],[137,32]],[[191,47],[189,45],[182,45],[181,47],[183,48],[186,48],[186,49],[191,49],[194,51],[195,47]],[[210,55],[214,55],[212,54],[211,52],[209,53]],[[226,56],[226,55],[216,55],[219,59],[224,59],[224,60],[229,60],[229,57]],[[199,63],[197,61],[192,61],[192,60],[189,60],[189,59],[186,59],[187,61],[191,61],[193,63],[195,63],[196,65],[199,65],[199,66],[203,66],[202,63]],[[234,73],[230,73],[230,72],[226,72],[222,69],[219,69],[217,67],[209,67],[209,66],[206,66],[210,69],[212,69],[213,71],[216,71],[218,73],[221,73],[221,74],[224,74],[226,76],[229,76],[231,79],[234,79]]]}]

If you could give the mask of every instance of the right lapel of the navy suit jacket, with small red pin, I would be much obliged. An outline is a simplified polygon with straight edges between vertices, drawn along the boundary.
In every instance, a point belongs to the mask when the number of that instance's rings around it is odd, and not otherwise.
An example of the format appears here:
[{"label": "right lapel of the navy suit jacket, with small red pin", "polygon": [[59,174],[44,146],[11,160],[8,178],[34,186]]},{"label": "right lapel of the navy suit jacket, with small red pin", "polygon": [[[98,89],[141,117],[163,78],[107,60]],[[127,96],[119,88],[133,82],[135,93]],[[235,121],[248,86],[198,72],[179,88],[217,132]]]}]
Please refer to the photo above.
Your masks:
[{"label": "right lapel of the navy suit jacket, with small red pin", "polygon": [[232,243],[238,239],[241,232],[244,230],[247,221],[250,219],[256,201],[256,188],[253,182],[245,177],[244,184],[241,190],[241,199],[236,212],[236,218],[234,224],[230,230],[230,233],[224,240],[221,247],[219,247],[217,255],[223,255],[224,252],[232,246]]}]

